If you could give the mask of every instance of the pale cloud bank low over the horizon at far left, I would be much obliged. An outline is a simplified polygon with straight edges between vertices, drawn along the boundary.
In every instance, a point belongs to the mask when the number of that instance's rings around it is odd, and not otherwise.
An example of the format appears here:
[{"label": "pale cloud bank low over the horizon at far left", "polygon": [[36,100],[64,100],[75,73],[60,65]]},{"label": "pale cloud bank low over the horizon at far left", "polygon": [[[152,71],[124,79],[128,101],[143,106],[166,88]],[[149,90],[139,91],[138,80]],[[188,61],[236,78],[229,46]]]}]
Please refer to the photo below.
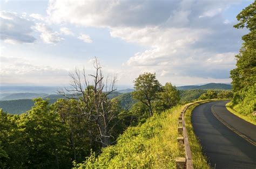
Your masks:
[{"label": "pale cloud bank low over the horizon at far left", "polygon": [[68,70],[46,65],[35,65],[30,60],[18,57],[0,57],[1,83],[33,82],[38,85],[64,84],[69,82]]}]

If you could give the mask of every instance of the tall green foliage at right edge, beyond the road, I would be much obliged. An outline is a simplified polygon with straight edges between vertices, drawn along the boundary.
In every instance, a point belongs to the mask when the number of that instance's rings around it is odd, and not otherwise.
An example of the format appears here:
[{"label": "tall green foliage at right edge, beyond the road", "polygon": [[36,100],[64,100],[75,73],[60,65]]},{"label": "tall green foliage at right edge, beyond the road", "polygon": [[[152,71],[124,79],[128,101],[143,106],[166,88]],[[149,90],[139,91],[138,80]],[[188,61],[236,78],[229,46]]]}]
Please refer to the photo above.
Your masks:
[{"label": "tall green foliage at right edge, beyond the road", "polygon": [[235,56],[237,67],[230,72],[234,91],[232,106],[239,113],[252,116],[256,103],[256,2],[243,9],[237,19],[239,23],[234,27],[246,27],[250,32],[242,37],[244,44]]}]

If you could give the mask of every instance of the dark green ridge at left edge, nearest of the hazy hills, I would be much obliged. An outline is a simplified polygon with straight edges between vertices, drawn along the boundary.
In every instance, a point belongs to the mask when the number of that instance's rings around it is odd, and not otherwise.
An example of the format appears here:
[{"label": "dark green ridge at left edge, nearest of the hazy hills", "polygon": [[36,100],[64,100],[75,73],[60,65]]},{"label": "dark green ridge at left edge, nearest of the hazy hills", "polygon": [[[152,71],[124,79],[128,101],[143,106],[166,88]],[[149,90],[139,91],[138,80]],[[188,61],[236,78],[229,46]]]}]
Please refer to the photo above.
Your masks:
[{"label": "dark green ridge at left edge, nearest of the hazy hills", "polygon": [[[50,99],[50,103],[56,102],[57,99]],[[10,114],[22,114],[31,109],[34,105],[31,99],[21,99],[21,100],[6,100],[0,101],[0,108],[3,111],[9,112]]]}]

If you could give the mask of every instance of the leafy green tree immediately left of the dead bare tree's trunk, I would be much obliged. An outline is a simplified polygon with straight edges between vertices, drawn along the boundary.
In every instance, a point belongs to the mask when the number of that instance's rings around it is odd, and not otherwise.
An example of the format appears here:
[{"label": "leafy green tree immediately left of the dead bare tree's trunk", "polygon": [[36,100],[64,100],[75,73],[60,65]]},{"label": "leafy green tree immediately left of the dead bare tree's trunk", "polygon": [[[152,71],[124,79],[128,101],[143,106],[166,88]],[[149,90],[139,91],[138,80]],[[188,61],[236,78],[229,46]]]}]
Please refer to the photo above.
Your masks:
[{"label": "leafy green tree immediately left of the dead bare tree's trunk", "polygon": [[52,104],[53,110],[60,115],[69,132],[69,152],[72,161],[82,162],[85,156],[89,156],[90,149],[99,150],[99,144],[95,142],[98,135],[97,126],[87,121],[79,109],[80,102],[75,99],[59,99]]}]

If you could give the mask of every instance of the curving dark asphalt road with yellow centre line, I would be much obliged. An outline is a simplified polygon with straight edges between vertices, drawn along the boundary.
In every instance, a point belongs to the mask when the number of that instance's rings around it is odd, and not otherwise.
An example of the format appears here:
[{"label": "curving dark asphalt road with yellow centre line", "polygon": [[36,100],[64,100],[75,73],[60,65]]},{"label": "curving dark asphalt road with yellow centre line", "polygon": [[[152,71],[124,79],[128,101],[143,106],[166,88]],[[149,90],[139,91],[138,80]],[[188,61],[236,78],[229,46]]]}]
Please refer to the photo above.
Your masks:
[{"label": "curving dark asphalt road with yellow centre line", "polygon": [[256,126],[231,114],[225,107],[227,102],[196,107],[191,119],[194,132],[212,167],[255,169]]}]

